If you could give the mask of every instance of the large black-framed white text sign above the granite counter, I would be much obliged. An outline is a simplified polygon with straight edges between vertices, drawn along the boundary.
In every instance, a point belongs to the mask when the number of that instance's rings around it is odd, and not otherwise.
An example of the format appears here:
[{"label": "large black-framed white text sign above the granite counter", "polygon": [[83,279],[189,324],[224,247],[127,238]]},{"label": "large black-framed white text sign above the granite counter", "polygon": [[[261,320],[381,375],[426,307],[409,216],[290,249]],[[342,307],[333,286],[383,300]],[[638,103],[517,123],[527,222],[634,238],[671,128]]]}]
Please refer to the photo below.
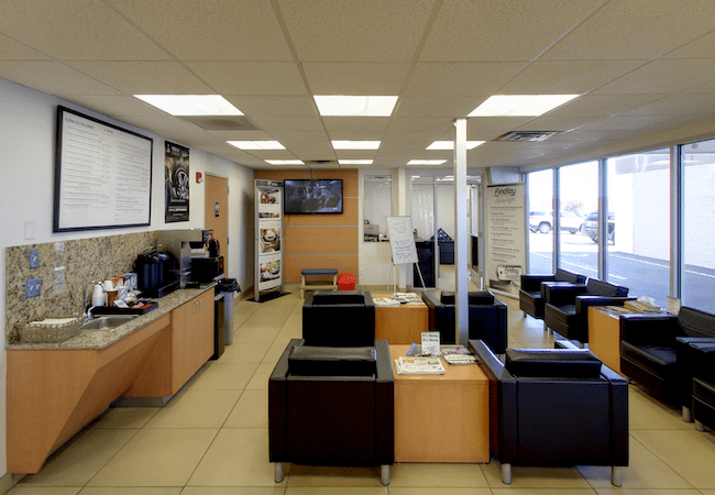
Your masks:
[{"label": "large black-framed white text sign above the granite counter", "polygon": [[148,226],[153,140],[57,107],[54,232]]}]

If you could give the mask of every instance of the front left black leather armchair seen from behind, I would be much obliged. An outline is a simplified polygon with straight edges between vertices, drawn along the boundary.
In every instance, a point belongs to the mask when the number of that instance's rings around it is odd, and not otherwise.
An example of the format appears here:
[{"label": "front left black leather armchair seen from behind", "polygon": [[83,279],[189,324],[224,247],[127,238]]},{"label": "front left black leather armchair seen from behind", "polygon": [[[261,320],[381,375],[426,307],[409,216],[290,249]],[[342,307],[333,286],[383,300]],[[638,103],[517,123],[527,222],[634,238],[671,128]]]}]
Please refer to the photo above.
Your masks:
[{"label": "front left black leather armchair seen from behind", "polygon": [[386,340],[373,346],[288,343],[268,382],[268,442],[275,481],[283,463],[380,465],[395,459],[395,380]]}]

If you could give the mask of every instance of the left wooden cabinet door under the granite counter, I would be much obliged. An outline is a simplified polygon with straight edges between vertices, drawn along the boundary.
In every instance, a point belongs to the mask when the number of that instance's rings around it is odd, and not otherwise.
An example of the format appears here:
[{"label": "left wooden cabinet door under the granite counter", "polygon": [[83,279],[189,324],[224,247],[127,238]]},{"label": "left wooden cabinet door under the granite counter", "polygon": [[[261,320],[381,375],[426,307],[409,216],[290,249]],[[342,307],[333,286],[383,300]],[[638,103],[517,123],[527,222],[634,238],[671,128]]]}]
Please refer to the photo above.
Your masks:
[{"label": "left wooden cabinet door under the granite counter", "polygon": [[196,372],[196,321],[198,300],[172,311],[172,395]]}]

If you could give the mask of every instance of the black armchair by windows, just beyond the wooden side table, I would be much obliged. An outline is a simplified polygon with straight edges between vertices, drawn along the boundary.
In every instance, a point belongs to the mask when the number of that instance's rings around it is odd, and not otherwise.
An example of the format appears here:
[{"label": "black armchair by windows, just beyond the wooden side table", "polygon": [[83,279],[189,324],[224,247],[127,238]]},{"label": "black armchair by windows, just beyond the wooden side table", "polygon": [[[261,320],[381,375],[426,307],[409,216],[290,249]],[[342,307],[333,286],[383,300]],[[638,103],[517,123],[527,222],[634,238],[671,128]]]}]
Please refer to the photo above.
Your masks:
[{"label": "black armchair by windows, just beyond the wooden side table", "polygon": [[543,324],[569,340],[588,342],[588,306],[623,306],[628,288],[590,278],[583,285],[544,283]]}]

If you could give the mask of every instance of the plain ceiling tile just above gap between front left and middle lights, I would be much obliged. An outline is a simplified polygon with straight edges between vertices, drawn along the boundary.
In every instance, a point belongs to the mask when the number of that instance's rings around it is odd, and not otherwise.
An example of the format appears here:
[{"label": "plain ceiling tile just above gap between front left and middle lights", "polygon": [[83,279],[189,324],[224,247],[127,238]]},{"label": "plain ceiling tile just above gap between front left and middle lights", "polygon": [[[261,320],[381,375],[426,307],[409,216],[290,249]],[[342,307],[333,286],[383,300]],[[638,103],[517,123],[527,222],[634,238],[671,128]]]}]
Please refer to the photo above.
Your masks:
[{"label": "plain ceiling tile just above gap between front left and middle lights", "polygon": [[219,95],[308,95],[293,62],[188,62],[186,65]]}]

